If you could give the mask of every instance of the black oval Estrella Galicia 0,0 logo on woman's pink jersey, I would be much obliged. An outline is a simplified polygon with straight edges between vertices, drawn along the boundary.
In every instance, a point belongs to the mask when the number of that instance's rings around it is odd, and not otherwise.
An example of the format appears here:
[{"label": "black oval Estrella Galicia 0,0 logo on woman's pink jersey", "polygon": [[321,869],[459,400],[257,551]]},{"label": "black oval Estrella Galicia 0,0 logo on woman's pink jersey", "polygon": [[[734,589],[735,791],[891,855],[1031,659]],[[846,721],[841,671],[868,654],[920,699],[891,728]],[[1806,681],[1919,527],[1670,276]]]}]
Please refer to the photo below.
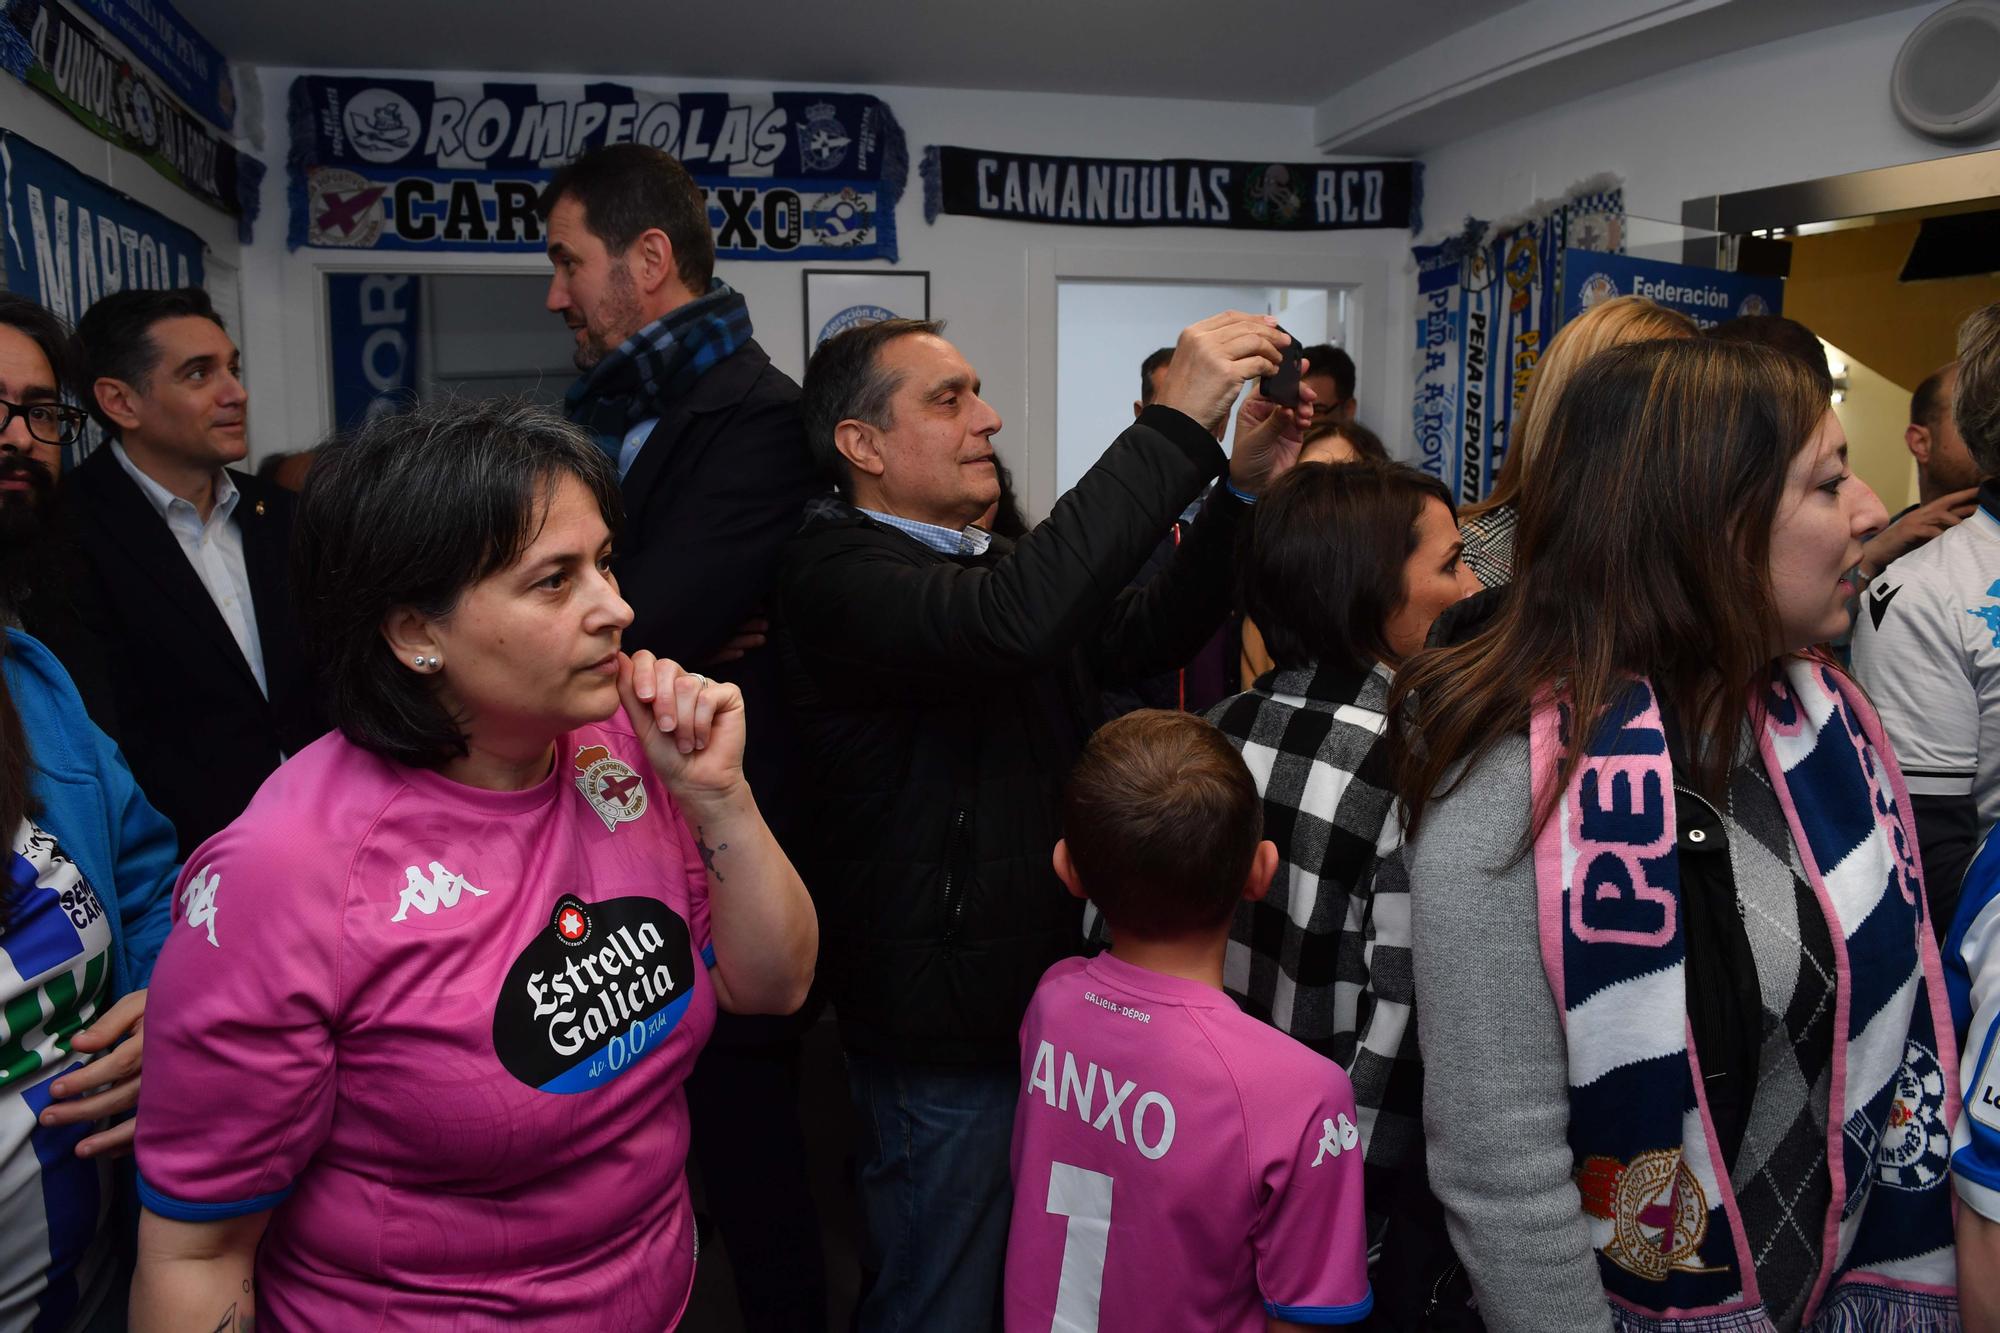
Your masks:
[{"label": "black oval Estrella Galicia 0,0 logo on woman's pink jersey", "polygon": [[544,1093],[586,1093],[666,1045],[694,1001],[688,923],[658,899],[562,895],[494,1005],[500,1065]]}]

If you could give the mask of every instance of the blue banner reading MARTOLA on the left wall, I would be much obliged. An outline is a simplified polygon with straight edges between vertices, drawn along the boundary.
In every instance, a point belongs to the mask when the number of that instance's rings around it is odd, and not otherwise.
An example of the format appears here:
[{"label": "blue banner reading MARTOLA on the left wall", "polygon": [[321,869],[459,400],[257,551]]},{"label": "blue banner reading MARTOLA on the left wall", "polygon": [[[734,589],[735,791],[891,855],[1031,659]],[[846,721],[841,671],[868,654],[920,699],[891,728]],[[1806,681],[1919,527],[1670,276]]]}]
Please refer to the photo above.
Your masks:
[{"label": "blue banner reading MARTOLA on the left wall", "polygon": [[202,238],[0,130],[6,286],[66,324],[130,286],[202,286]]}]

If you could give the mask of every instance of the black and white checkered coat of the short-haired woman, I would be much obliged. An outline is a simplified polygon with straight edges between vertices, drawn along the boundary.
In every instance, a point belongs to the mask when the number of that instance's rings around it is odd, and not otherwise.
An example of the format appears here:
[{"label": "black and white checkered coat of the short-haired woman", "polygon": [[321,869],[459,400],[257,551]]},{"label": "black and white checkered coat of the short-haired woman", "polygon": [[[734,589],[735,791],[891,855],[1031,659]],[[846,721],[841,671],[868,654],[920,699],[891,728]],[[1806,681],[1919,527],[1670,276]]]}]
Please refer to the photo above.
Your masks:
[{"label": "black and white checkered coat of the short-haired woman", "polygon": [[1386,666],[1272,671],[1208,713],[1256,777],[1280,855],[1270,895],[1236,913],[1224,987],[1348,1071],[1370,1211],[1414,1161],[1424,1117],[1386,705]]}]

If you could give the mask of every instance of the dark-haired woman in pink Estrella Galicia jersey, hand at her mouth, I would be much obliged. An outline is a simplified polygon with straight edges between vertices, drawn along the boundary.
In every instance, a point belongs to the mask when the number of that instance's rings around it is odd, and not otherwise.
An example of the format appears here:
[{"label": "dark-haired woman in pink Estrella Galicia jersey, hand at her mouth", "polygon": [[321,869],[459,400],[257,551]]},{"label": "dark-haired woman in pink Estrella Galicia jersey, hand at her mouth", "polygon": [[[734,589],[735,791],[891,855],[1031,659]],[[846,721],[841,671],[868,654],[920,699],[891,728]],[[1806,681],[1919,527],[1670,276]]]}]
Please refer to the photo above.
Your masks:
[{"label": "dark-haired woman in pink Estrella Galicia jersey, hand at her mouth", "polygon": [[666,1329],[716,1005],[818,929],[730,685],[618,650],[618,480],[434,406],[320,454],[294,588],[338,731],[190,857],[140,1093],[134,1329]]}]

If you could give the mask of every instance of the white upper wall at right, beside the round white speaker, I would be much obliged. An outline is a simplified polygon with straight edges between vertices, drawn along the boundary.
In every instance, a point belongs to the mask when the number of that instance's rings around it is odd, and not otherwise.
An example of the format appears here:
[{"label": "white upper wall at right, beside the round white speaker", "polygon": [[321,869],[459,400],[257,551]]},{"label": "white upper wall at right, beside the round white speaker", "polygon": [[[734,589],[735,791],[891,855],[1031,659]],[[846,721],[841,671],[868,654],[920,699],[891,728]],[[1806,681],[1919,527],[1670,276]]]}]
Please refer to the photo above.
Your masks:
[{"label": "white upper wall at right, beside the round white speaker", "polygon": [[1668,70],[1514,120],[1424,154],[1430,234],[1464,216],[1504,218],[1574,182],[1614,172],[1626,212],[1680,220],[1682,200],[1944,158],[1906,130],[1888,98],[1910,30],[1938,4]]}]

